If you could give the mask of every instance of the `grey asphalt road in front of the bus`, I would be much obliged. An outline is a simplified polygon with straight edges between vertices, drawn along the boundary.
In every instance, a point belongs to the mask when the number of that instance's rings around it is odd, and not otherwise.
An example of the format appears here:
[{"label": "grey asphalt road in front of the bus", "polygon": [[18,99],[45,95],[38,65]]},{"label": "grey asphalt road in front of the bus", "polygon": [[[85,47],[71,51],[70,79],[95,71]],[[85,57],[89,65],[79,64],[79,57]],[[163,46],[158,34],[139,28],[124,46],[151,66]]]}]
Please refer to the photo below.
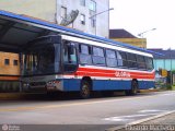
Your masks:
[{"label": "grey asphalt road in front of the bus", "polygon": [[92,99],[74,97],[57,99],[45,98],[44,95],[37,97],[31,95],[24,99],[0,100],[0,124],[20,124],[25,130],[58,130],[59,128],[67,131],[96,131],[174,109],[175,92],[173,91]]}]

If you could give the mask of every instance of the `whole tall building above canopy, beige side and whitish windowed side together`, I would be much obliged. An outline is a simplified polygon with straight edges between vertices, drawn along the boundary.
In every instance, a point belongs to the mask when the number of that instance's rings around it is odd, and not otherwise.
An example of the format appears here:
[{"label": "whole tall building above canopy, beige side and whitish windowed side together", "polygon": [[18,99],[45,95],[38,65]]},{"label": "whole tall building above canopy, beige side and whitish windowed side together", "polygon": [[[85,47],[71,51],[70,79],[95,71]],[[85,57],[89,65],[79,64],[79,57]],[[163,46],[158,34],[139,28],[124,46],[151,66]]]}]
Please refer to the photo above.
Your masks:
[{"label": "whole tall building above canopy, beige side and whitish windowed side together", "polygon": [[62,24],[62,20],[65,19],[70,21],[69,17],[72,11],[78,10],[79,14],[69,27],[107,38],[109,29],[108,9],[109,0],[0,1],[0,10],[37,17],[57,24]]}]

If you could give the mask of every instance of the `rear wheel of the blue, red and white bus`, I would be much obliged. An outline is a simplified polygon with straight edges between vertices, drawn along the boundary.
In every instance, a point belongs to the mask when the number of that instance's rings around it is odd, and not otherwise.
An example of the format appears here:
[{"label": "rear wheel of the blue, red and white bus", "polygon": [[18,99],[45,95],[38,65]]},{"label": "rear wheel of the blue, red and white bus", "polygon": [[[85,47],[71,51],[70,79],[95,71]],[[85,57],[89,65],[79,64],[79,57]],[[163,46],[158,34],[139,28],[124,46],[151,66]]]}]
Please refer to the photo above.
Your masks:
[{"label": "rear wheel of the blue, red and white bus", "polygon": [[137,95],[138,93],[138,82],[132,81],[131,82],[131,90],[125,91],[126,95]]}]

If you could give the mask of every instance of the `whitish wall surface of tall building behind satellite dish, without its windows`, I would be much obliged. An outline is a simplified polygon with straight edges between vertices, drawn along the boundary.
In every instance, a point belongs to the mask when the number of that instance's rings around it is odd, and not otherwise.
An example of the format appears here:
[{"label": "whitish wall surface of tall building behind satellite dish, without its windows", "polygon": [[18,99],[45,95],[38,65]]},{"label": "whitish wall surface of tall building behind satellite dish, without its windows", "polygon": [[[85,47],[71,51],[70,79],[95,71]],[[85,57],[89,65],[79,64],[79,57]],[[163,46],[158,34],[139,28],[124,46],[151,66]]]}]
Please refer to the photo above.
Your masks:
[{"label": "whitish wall surface of tall building behind satellite dish, without its windows", "polygon": [[[109,9],[108,0],[94,0],[96,2],[96,13]],[[73,27],[78,31],[82,31],[89,34],[94,34],[102,37],[108,38],[108,29],[109,29],[109,12],[104,12],[100,15],[96,15],[96,27],[91,26],[90,21],[90,0],[85,0],[85,7],[80,4],[80,0],[57,0],[57,22],[58,24],[61,22],[61,7],[67,8],[68,14],[72,10],[79,10],[79,15],[73,22],[73,24],[69,25],[69,27]],[[80,16],[81,14],[85,15],[85,25],[81,24]]]}]

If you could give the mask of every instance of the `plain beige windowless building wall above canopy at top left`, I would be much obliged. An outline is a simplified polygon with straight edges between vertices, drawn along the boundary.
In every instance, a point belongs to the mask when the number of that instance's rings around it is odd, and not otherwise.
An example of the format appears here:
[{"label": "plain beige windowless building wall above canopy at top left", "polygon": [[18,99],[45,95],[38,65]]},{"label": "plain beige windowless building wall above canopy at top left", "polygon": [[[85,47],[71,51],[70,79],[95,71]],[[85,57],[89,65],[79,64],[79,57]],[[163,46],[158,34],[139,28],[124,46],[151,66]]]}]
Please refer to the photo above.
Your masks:
[{"label": "plain beige windowless building wall above canopy at top left", "polygon": [[0,10],[56,21],[56,0],[0,0]]}]

